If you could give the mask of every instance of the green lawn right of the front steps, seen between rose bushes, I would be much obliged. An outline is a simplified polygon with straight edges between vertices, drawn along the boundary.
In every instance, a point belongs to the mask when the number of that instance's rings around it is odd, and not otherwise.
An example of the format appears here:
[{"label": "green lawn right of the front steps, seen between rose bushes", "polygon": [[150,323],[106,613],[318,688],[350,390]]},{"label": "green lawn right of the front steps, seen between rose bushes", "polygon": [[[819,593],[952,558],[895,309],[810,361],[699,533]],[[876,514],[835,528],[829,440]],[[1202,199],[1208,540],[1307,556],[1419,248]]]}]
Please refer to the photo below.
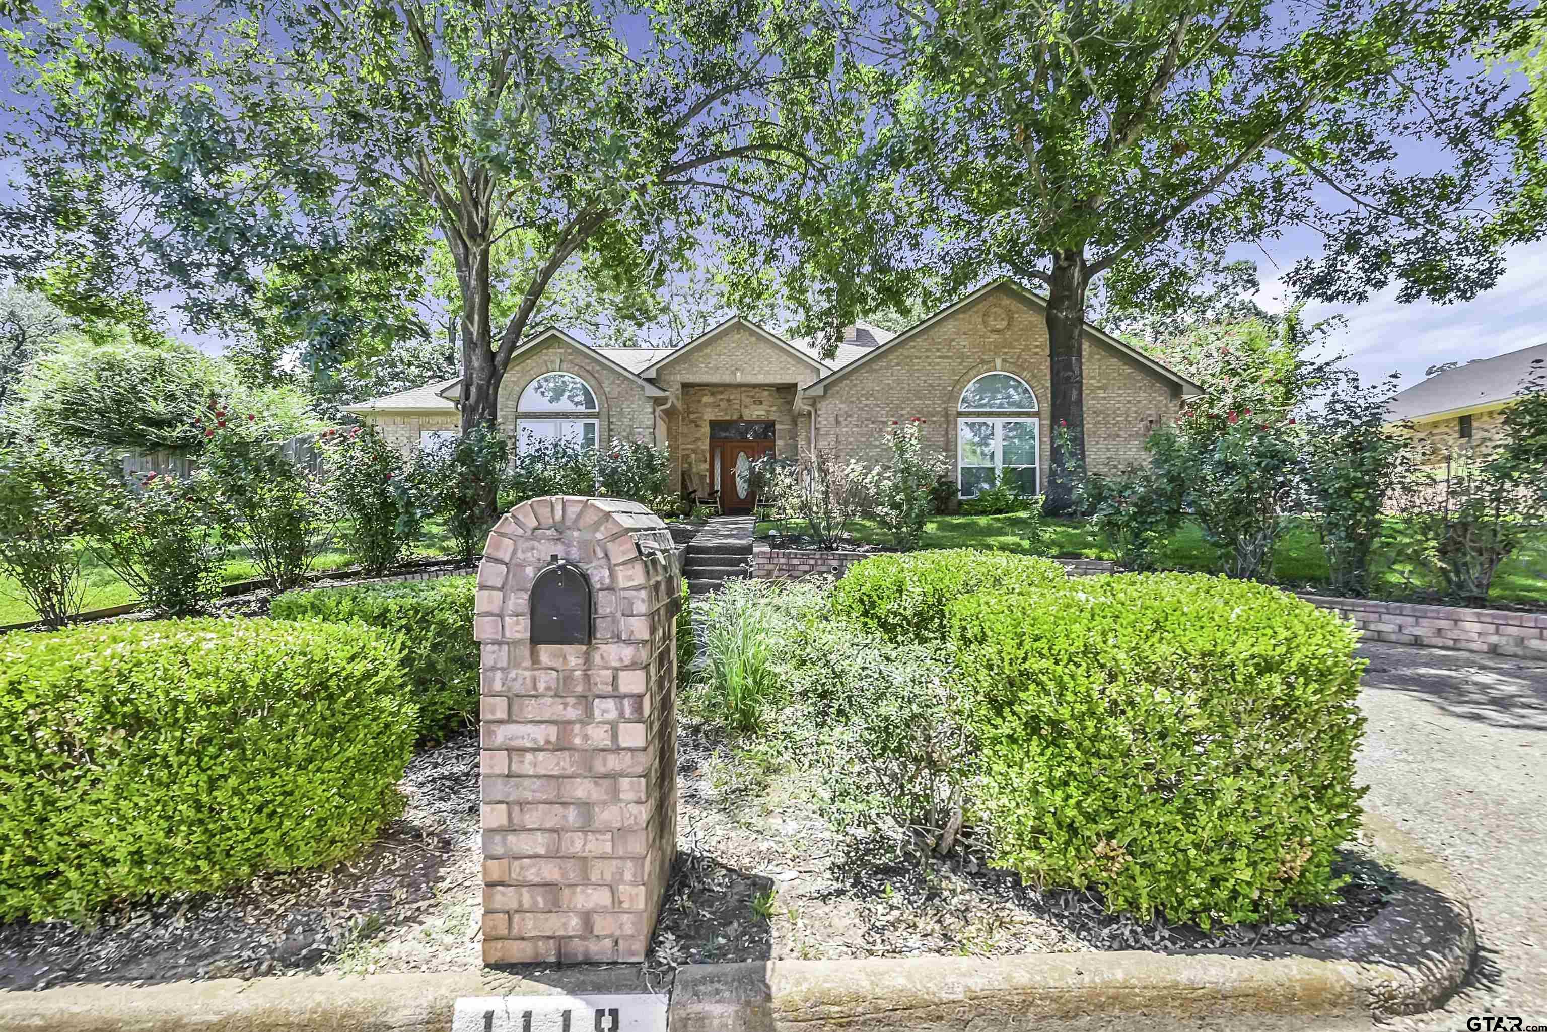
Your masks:
[{"label": "green lawn right of the front steps, seen between rose bushes", "polygon": [[[1030,525],[1024,514],[1009,515],[945,515],[924,525],[922,548],[984,548],[1007,552],[1026,552],[1026,532]],[[1060,559],[1114,559],[1101,537],[1084,520],[1043,520],[1054,555]],[[756,532],[766,535],[772,523],[758,523]],[[846,531],[860,543],[885,545],[886,535],[874,523],[859,520]],[[1204,540],[1200,526],[1188,520],[1160,554],[1160,563],[1168,569],[1214,572],[1219,568],[1214,548]],[[1392,569],[1381,569],[1377,557],[1378,585],[1381,594],[1400,596],[1409,593]],[[1287,588],[1316,589],[1327,583],[1327,560],[1315,531],[1304,521],[1293,520],[1273,549],[1273,579]],[[1547,603],[1547,531],[1528,538],[1516,551],[1493,580],[1488,596],[1494,602]]]}]

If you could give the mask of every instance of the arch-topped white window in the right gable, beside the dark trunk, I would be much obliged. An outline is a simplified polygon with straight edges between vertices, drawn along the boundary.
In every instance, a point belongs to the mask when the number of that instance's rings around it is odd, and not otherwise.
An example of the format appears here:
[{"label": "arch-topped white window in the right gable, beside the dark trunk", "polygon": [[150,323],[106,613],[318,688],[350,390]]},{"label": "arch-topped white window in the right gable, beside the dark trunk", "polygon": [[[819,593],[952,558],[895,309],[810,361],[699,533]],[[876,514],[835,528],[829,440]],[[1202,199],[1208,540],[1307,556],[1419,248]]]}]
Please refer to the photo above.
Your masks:
[{"label": "arch-topped white window in the right gable, beside the dark trunk", "polygon": [[[1036,393],[1013,373],[984,373],[962,390],[956,419],[956,477],[962,498],[1006,483],[1038,494]],[[973,415],[967,415],[973,413]],[[990,415],[976,415],[990,413]],[[1006,415],[998,415],[1006,413]]]}]

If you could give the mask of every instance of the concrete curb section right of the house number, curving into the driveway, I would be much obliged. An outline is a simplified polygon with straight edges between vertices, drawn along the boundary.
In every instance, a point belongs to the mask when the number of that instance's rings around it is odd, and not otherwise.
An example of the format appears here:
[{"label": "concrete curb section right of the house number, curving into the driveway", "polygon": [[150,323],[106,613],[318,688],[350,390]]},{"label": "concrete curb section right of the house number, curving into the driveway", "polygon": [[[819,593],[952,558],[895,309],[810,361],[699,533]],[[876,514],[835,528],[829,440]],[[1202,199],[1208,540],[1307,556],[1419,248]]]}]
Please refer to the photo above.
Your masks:
[{"label": "concrete curb section right of the house number, curving into the driveway", "polygon": [[1429,1010],[1471,970],[1471,907],[1392,822],[1366,814],[1364,826],[1397,874],[1395,893],[1369,925],[1318,948],[699,964],[678,972],[670,1030],[1330,1032]]}]

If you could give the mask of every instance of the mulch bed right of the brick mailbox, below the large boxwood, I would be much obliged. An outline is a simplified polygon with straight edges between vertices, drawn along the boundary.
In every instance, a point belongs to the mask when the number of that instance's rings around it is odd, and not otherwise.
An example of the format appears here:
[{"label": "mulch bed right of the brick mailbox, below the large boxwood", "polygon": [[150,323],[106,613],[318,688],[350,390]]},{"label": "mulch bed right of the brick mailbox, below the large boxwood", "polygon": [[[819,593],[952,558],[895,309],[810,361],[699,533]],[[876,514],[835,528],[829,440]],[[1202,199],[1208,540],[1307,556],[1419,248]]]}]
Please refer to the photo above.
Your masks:
[{"label": "mulch bed right of the brick mailbox, below the large boxwood", "polygon": [[866,956],[1013,956],[1089,950],[1247,955],[1368,922],[1391,876],[1360,849],[1341,902],[1293,921],[1204,931],[1106,913],[1095,893],[1036,891],[981,854],[899,863],[840,839],[815,800],[820,777],[770,769],[704,729],[678,736],[678,859],[651,944],[682,964]]}]

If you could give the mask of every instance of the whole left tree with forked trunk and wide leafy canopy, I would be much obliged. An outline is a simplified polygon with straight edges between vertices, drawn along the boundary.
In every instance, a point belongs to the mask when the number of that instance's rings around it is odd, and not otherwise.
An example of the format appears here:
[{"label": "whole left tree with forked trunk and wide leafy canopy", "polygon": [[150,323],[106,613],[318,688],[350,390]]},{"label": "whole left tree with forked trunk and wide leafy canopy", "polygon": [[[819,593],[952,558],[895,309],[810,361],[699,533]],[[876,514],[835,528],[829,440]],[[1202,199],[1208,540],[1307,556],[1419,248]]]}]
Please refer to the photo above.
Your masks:
[{"label": "whole left tree with forked trunk and wide leafy canopy", "polygon": [[[401,311],[401,271],[422,263],[433,226],[461,294],[464,427],[492,422],[562,272],[627,299],[705,234],[726,252],[761,248],[857,139],[817,0],[130,0],[67,14],[8,37],[48,144],[0,218],[5,243],[34,261],[85,255],[104,294],[130,275],[141,291],[175,283],[195,325],[240,325],[257,322],[263,271],[305,288],[295,309],[364,291],[385,303],[343,308]],[[131,240],[102,231],[114,221]],[[53,238],[25,240],[39,223]],[[497,246],[514,299],[501,313]]]}]

